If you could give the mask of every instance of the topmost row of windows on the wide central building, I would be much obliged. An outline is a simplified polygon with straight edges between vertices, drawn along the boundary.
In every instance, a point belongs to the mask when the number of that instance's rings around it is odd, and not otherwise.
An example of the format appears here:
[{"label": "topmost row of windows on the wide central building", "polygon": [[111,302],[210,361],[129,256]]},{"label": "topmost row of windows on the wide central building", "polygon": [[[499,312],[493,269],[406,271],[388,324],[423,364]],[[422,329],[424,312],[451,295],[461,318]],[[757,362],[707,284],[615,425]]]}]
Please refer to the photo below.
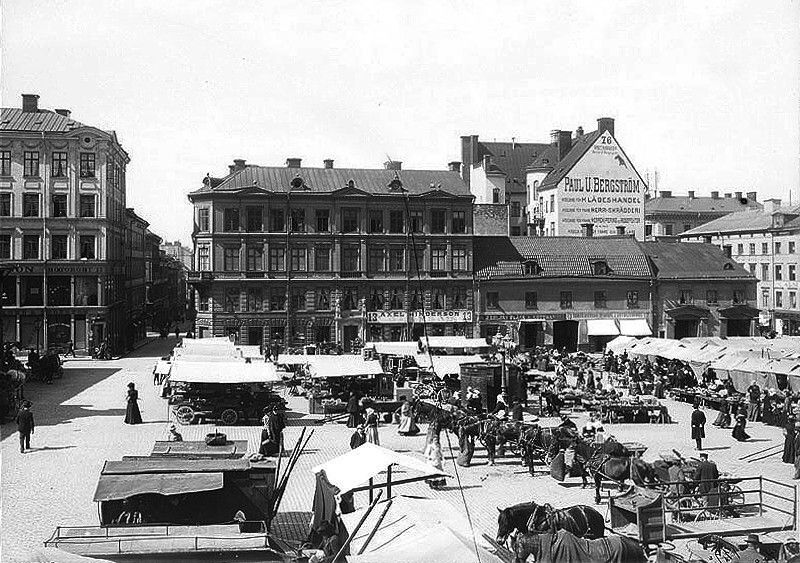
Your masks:
[{"label": "topmost row of windows on the wide central building", "polygon": [[[361,209],[348,207],[341,210],[340,227],[342,233],[357,233],[361,231]],[[452,211],[450,213],[450,232],[464,234],[467,232],[466,211]],[[242,220],[244,219],[244,221]],[[406,221],[407,219],[407,221]],[[404,233],[406,229],[412,233],[421,233],[424,214],[422,210],[411,210],[408,218],[402,210],[390,210],[387,216],[382,209],[374,209],[367,213],[366,229],[369,233]],[[308,223],[313,221],[313,223]],[[305,209],[290,209],[288,224],[286,210],[271,208],[264,221],[264,208],[261,206],[246,206],[244,217],[240,209],[227,207],[222,210],[222,230],[224,232],[238,232],[244,227],[245,232],[258,233],[265,230],[274,233],[285,232],[287,227],[293,233],[308,232],[309,227],[315,227],[315,232],[327,233],[331,231],[330,209],[316,209],[314,217],[307,217]],[[201,207],[197,210],[197,228],[201,232],[211,231],[211,210]],[[447,209],[431,209],[431,233],[443,234],[447,232]]]}]

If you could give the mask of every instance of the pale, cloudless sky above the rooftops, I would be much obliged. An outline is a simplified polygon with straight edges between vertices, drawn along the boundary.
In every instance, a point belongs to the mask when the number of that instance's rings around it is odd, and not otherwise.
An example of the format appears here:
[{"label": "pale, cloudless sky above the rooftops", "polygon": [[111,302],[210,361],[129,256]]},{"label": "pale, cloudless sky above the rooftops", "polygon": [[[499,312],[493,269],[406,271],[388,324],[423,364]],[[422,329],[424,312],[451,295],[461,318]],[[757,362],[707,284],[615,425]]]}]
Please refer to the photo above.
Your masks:
[{"label": "pale, cloudless sky above the rooftops", "polygon": [[658,189],[800,202],[800,0],[3,0],[0,98],[114,129],[128,206],[190,243],[234,158],[408,169],[461,135],[616,119]]}]

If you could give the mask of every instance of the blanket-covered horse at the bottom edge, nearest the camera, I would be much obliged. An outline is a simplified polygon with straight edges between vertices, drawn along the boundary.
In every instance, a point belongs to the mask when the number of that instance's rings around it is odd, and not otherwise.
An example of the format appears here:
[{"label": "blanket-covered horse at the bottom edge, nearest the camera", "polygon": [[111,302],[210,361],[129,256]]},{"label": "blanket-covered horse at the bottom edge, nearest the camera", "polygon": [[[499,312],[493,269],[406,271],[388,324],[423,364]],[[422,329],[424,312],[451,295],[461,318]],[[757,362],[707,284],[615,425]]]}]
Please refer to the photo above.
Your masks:
[{"label": "blanket-covered horse at the bottom edge, nearest the camera", "polygon": [[514,546],[515,563],[534,561],[559,563],[645,563],[647,556],[641,544],[626,536],[609,536],[595,540],[576,537],[571,532],[522,534]]}]

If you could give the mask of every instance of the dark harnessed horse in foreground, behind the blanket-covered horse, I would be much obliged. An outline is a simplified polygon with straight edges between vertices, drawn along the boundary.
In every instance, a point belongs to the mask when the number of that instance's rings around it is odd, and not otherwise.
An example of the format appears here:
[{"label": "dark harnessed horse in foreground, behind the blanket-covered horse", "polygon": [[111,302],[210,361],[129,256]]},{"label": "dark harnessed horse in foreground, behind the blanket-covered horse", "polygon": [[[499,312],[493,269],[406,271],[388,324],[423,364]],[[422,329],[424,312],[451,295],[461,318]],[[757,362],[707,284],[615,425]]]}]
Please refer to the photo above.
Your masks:
[{"label": "dark harnessed horse in foreground, behind the blanket-covered horse", "polygon": [[582,504],[553,508],[549,504],[523,502],[497,509],[497,543],[503,544],[516,530],[546,532],[568,530],[578,537],[602,538],[606,525],[603,515]]}]

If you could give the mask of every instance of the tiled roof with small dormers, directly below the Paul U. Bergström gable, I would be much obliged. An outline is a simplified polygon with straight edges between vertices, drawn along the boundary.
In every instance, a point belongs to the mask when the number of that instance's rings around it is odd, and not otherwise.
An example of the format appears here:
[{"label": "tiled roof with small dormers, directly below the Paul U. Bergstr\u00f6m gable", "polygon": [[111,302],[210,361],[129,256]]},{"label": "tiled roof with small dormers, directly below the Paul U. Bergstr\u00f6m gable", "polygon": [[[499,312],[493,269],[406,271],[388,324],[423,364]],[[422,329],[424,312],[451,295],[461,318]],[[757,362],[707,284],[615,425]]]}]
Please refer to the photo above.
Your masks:
[{"label": "tiled roof with small dormers, directly below the Paul U. Bergstr\u00f6m gable", "polygon": [[618,237],[475,237],[475,272],[479,278],[524,276],[526,262],[539,268],[536,278],[596,277],[592,264],[604,261],[610,277],[649,278],[647,257],[630,236]]}]

